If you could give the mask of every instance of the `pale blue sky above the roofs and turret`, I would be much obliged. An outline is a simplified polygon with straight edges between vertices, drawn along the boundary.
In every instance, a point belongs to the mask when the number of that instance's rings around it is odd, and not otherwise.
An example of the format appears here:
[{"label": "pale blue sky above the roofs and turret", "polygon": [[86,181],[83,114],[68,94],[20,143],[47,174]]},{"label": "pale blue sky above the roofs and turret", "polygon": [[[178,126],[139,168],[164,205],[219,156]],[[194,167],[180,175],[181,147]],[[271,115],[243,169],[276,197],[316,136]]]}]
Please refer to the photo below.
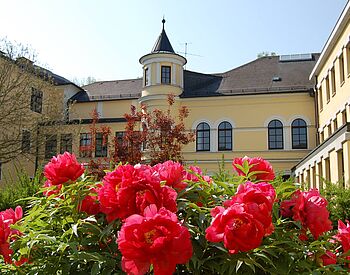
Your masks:
[{"label": "pale blue sky above the roofs and turret", "polygon": [[[139,58],[165,29],[187,69],[230,70],[259,52],[319,52],[347,0],[0,0],[0,38],[29,44],[68,79],[142,75]],[[199,55],[199,56],[197,56]]]}]

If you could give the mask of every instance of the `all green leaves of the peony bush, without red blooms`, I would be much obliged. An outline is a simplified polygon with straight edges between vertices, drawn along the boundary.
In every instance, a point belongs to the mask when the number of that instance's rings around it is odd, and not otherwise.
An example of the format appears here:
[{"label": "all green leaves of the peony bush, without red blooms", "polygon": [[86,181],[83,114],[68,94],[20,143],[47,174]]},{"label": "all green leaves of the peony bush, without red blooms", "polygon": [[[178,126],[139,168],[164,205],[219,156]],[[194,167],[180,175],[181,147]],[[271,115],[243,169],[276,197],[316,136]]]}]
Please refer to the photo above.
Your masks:
[{"label": "all green leaves of the peony bush, without red blooms", "polygon": [[[176,274],[348,274],[341,265],[321,264],[319,257],[326,250],[335,251],[336,244],[329,242],[332,232],[318,240],[310,236],[308,241],[301,241],[301,225],[280,216],[280,202],[298,188],[292,180],[283,181],[281,177],[272,182],[277,194],[272,211],[274,232],[261,246],[230,254],[222,243],[207,241],[210,211],[222,206],[245,181],[244,177],[222,173],[211,183],[189,181],[178,194],[177,216],[191,233],[194,253],[187,264],[177,266]],[[22,235],[12,243],[12,249],[14,259],[25,257],[30,264],[4,265],[0,257],[0,274],[123,274],[116,243],[121,221],[108,224],[102,214],[89,216],[79,211],[82,198],[92,195],[89,188],[98,184],[86,177],[64,185],[60,196],[28,198],[30,209],[13,227]],[[338,259],[339,264],[343,261]]]}]

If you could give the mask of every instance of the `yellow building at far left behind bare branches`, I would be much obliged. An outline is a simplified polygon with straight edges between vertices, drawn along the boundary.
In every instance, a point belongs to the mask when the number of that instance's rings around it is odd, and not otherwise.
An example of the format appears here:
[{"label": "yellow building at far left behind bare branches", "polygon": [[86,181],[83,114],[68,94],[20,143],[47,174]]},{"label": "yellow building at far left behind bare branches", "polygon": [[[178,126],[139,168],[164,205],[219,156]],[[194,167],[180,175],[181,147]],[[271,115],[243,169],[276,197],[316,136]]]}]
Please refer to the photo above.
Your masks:
[{"label": "yellow building at far left behind bare branches", "polygon": [[23,56],[0,52],[0,183],[16,180],[20,170],[33,176],[44,157],[39,148],[56,154],[49,147],[56,136],[43,126],[60,127],[68,99],[81,90]]}]

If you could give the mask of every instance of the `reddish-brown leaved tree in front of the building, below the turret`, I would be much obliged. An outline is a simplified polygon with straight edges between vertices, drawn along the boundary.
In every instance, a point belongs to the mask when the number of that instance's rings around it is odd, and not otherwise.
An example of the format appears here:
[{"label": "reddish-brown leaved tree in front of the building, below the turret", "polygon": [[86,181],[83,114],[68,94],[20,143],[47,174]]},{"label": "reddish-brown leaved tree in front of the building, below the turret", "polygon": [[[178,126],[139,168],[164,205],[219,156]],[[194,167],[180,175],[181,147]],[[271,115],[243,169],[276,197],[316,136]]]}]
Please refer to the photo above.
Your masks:
[{"label": "reddish-brown leaved tree in front of the building, below the turret", "polygon": [[[151,165],[173,160],[182,162],[182,148],[194,141],[194,133],[185,128],[185,120],[189,115],[187,107],[179,108],[177,117],[173,117],[174,96],[168,97],[167,110],[147,110],[145,105],[137,111],[131,106],[131,112],[125,114],[126,126],[123,136],[111,137],[111,129],[107,126],[97,126],[98,113],[94,110],[91,114],[90,126],[91,144],[80,148],[80,152],[93,152],[96,146],[96,133],[103,135],[103,146],[112,149],[109,158],[92,158],[89,163],[90,171],[100,175],[100,168],[105,168],[107,162],[122,163],[149,163]],[[176,110],[173,110],[176,111]],[[103,162],[105,163],[103,165]],[[100,169],[101,170],[101,169]]]}]

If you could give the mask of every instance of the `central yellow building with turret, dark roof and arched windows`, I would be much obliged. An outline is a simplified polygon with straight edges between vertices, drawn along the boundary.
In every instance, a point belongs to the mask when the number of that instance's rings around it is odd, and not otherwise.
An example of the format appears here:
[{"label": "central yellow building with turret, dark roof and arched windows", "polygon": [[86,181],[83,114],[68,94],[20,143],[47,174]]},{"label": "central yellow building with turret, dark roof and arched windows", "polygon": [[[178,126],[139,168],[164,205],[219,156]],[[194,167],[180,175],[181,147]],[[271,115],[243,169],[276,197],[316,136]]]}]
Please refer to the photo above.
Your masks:
[{"label": "central yellow building with turret, dark roof and arched windows", "polygon": [[[187,164],[214,172],[222,156],[229,169],[234,157],[261,156],[289,175],[316,145],[315,83],[308,75],[317,58],[318,54],[269,56],[220,74],[187,71],[187,61],[173,50],[163,21],[151,53],[140,58],[143,78],[98,81],[71,98],[70,119],[87,123],[73,144],[92,143],[88,119],[94,108],[100,125],[118,136],[131,105],[163,108],[167,95],[174,94],[176,108],[189,108],[186,128],[196,132],[196,142],[183,150]],[[92,156],[108,155],[107,148],[101,150]]]}]

